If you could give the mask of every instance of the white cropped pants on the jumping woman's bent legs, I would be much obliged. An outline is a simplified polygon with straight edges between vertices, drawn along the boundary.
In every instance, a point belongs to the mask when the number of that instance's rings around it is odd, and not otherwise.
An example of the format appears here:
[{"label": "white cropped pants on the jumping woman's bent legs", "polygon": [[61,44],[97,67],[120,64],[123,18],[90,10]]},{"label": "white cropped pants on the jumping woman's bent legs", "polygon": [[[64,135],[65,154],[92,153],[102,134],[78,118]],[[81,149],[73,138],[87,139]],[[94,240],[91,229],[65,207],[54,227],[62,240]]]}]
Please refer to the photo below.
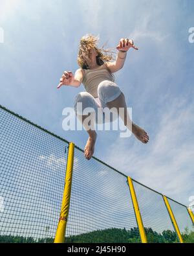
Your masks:
[{"label": "white cropped pants on the jumping woman's bent legs", "polygon": [[[111,102],[112,100],[115,100],[118,98],[118,96],[122,93],[120,88],[117,86],[116,83],[109,81],[109,80],[103,80],[98,85],[98,97],[94,98],[90,93],[87,91],[81,91],[81,93],[78,93],[74,99],[74,111],[76,113],[76,116],[79,117],[79,115],[83,115],[83,110],[85,108],[92,108],[93,111],[95,111],[95,117],[96,117],[96,123],[104,123],[104,122],[113,122],[118,117],[115,118],[115,115],[110,115],[107,119],[107,115],[105,115],[104,108],[107,108],[107,102]],[[82,111],[77,108],[78,102],[82,103]],[[102,119],[98,118],[98,111],[102,113]]]}]

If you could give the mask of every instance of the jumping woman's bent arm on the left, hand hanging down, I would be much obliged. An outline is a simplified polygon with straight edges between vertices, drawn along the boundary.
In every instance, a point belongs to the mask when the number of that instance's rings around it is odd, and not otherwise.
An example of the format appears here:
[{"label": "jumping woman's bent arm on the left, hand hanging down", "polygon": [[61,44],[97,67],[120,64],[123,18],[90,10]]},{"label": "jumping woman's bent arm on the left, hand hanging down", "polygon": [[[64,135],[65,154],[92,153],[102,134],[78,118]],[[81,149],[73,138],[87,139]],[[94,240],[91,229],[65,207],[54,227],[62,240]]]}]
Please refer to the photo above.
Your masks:
[{"label": "jumping woman's bent arm on the left, hand hanging down", "polygon": [[83,73],[81,69],[76,70],[75,76],[70,71],[64,71],[60,79],[60,83],[58,84],[58,89],[61,86],[79,87],[82,81],[83,81]]}]

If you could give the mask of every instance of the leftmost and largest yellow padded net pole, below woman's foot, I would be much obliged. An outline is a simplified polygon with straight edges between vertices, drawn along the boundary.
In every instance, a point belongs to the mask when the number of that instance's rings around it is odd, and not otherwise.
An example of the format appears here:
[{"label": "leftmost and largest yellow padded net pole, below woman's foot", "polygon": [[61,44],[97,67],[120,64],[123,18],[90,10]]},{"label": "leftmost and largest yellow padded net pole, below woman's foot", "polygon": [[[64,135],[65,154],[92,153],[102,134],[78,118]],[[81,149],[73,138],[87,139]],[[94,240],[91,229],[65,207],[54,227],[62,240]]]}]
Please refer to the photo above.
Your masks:
[{"label": "leftmost and largest yellow padded net pole, below woman's foot", "polygon": [[67,226],[67,217],[68,217],[69,205],[70,205],[70,191],[71,191],[71,185],[72,185],[73,162],[74,162],[74,143],[69,143],[67,167],[66,167],[66,175],[65,175],[65,188],[63,191],[61,213],[60,213],[58,228],[56,230],[56,237],[54,239],[54,243],[65,242],[65,229]]}]

